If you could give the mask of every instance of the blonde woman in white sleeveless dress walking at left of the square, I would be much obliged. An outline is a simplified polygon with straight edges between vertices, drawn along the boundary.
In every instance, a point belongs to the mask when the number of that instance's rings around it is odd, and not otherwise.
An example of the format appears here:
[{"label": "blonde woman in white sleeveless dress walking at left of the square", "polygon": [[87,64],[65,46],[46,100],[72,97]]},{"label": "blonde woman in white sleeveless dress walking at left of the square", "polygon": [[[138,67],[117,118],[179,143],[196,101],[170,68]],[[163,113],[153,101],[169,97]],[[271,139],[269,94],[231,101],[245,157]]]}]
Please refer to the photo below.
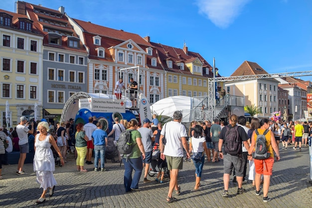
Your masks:
[{"label": "blonde woman in white sleeveless dress walking at left of the square", "polygon": [[56,185],[56,181],[53,176],[53,172],[55,171],[55,162],[51,145],[59,155],[62,165],[64,165],[64,160],[54,138],[48,134],[49,124],[47,122],[40,122],[37,126],[37,130],[39,130],[40,133],[35,137],[33,171],[36,172],[37,182],[40,184],[40,188],[43,188],[41,197],[36,201],[36,204],[41,204],[45,202],[45,194],[48,189],[49,196],[53,196]]}]

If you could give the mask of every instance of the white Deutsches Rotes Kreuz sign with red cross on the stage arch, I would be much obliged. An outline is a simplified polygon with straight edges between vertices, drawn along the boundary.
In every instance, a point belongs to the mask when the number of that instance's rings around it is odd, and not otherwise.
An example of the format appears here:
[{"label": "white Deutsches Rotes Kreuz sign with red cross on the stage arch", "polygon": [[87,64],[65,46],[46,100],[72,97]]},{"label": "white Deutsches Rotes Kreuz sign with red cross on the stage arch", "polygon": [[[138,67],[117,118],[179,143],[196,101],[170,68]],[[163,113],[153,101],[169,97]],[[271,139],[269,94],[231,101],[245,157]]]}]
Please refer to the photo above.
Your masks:
[{"label": "white Deutsches Rotes Kreuz sign with red cross on the stage arch", "polygon": [[79,99],[79,110],[82,108],[99,113],[126,113],[126,103],[117,99],[82,98]]}]

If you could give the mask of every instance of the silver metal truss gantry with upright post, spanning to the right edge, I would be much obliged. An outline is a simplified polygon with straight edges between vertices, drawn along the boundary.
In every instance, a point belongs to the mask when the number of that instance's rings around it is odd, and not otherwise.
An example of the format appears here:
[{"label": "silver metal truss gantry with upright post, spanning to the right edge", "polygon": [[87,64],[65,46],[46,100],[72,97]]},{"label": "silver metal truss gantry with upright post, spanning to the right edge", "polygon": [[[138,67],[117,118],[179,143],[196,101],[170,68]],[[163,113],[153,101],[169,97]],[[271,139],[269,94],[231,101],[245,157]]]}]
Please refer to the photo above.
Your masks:
[{"label": "silver metal truss gantry with upright post, spanning to the right edge", "polygon": [[253,79],[269,79],[269,78],[283,78],[283,77],[298,77],[298,76],[311,76],[312,71],[301,72],[285,72],[274,74],[256,74],[256,75],[244,75],[244,76],[230,76],[230,77],[214,77],[208,78],[208,115],[209,120],[213,120],[215,115],[215,83],[216,82],[235,82],[246,81]]}]

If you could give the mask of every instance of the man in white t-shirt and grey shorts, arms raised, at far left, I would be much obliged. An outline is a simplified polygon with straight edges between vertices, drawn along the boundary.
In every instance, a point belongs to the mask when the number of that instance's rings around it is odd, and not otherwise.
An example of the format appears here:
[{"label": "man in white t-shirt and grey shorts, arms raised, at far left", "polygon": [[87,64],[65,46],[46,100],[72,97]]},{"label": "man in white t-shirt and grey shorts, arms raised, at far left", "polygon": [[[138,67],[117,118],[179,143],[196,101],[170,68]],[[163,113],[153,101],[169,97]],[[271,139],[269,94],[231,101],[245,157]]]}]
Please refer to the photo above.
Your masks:
[{"label": "man in white t-shirt and grey shorts, arms raised, at far left", "polygon": [[29,152],[29,145],[28,145],[28,133],[33,133],[33,122],[31,122],[31,129],[29,130],[29,122],[27,122],[27,118],[22,116],[19,118],[20,123],[16,126],[16,133],[18,135],[18,146],[19,146],[19,160],[16,174],[18,176],[24,175],[25,172],[23,171],[24,162],[26,159],[26,154]]}]

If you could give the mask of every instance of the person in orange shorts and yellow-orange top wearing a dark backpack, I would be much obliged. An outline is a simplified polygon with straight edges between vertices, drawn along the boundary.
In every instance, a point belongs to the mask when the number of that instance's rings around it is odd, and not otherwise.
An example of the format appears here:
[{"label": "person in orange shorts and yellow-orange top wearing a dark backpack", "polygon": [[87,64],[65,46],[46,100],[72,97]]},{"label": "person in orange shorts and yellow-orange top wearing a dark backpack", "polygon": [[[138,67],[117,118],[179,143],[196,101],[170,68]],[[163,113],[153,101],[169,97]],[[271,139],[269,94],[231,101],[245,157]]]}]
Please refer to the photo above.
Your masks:
[{"label": "person in orange shorts and yellow-orange top wearing a dark backpack", "polygon": [[253,160],[255,163],[255,184],[256,196],[260,195],[261,175],[263,175],[263,202],[269,202],[268,197],[270,178],[272,175],[274,164],[274,152],[276,153],[276,160],[280,160],[280,152],[275,141],[274,134],[269,130],[269,119],[262,119],[260,121],[260,128],[255,129],[251,137],[251,145],[248,150],[248,160]]}]

